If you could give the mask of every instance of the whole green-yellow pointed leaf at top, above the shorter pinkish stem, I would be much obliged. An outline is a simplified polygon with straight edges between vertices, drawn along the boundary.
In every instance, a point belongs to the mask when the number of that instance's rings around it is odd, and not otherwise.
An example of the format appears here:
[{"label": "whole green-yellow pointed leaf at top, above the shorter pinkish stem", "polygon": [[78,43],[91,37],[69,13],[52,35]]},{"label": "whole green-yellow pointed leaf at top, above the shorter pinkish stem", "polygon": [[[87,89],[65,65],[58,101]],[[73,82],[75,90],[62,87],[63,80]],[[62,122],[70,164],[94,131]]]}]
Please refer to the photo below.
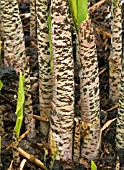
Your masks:
[{"label": "whole green-yellow pointed leaf at top, above the shorter pinkish stem", "polygon": [[76,31],[88,17],[88,0],[68,0]]}]

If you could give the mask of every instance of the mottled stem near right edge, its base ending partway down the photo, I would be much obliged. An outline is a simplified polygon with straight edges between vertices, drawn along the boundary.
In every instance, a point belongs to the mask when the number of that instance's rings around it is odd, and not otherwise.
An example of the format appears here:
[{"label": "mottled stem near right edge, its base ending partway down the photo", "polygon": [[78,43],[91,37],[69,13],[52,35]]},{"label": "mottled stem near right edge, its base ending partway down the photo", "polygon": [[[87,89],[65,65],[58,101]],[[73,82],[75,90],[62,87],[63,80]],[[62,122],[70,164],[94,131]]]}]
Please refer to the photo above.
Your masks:
[{"label": "mottled stem near right edge, its base ending partway down the photo", "polygon": [[118,103],[122,72],[122,3],[112,0],[111,6],[111,54],[109,57],[109,97]]}]

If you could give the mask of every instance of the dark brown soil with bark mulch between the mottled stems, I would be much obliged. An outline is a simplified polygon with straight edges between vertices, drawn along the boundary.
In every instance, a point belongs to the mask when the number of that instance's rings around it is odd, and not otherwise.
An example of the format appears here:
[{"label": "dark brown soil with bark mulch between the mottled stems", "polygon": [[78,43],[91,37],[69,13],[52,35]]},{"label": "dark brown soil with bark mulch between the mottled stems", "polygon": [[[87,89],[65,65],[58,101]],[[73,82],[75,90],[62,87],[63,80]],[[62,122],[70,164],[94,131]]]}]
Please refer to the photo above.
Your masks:
[{"label": "dark brown soil with bark mulch between the mottled stems", "polygon": [[[97,1],[91,1],[91,6]],[[97,54],[99,62],[99,77],[100,77],[100,121],[101,127],[109,120],[116,118],[117,115],[117,103],[113,103],[109,99],[109,65],[108,59],[110,55],[111,48],[111,18],[106,19],[106,16],[110,12],[111,1],[108,0],[102,4],[96,11],[91,13],[92,23],[95,28],[96,36],[96,45],[97,45]],[[29,13],[29,2],[23,1],[20,3],[20,13]],[[124,4],[123,4],[124,5]],[[124,8],[123,8],[124,9]],[[123,11],[124,13],[124,11]],[[124,18],[123,18],[124,21]],[[33,99],[33,110],[34,114],[39,115],[39,99],[38,99],[38,60],[37,60],[37,48],[36,40],[30,37],[29,32],[29,18],[22,17],[23,28],[25,33],[26,41],[26,52],[27,56],[30,57],[30,66],[31,66],[31,85],[32,85],[32,99]],[[123,23],[124,28],[124,23]],[[109,33],[108,36],[104,32]],[[74,36],[73,36],[74,39]],[[74,46],[75,54],[75,46]],[[3,57],[3,51],[2,51]],[[2,151],[1,151],[1,169],[7,170],[10,166],[10,163],[13,159],[11,149],[6,150],[6,148],[11,144],[12,133],[15,126],[16,116],[16,102],[17,102],[17,90],[18,90],[18,75],[15,70],[11,67],[5,67],[3,65],[3,58],[1,58],[0,64],[0,79],[2,80],[4,86],[0,92],[0,110],[2,110],[3,121],[4,121],[4,135],[2,135]],[[75,56],[74,56],[75,61]],[[79,101],[79,69],[75,61],[75,114],[78,114],[78,101]],[[36,86],[35,86],[36,85]],[[36,87],[36,88],[34,88]],[[37,137],[36,139],[29,141],[27,138],[24,138],[20,142],[20,147],[23,148],[28,153],[34,155],[36,158],[44,162],[44,153],[47,149],[47,144],[42,143],[41,136],[39,134],[39,121],[36,122]],[[24,124],[21,128],[21,134],[25,132]],[[97,168],[100,170],[109,169],[114,170],[117,164],[116,161],[116,147],[115,147],[115,134],[116,134],[116,121],[113,121],[102,134],[102,143],[100,156],[95,161]],[[47,149],[48,152],[49,149]],[[21,157],[21,160],[23,157]],[[46,156],[46,166],[49,167],[51,161],[51,155]],[[122,158],[123,159],[123,158]],[[123,163],[123,161],[122,161]],[[123,169],[123,164],[121,164]],[[25,164],[24,169],[36,170],[40,169],[38,166],[31,162]],[[68,164],[55,161],[54,170],[65,170],[65,169],[74,169],[74,170],[84,170],[85,166],[79,162],[77,164]]]}]

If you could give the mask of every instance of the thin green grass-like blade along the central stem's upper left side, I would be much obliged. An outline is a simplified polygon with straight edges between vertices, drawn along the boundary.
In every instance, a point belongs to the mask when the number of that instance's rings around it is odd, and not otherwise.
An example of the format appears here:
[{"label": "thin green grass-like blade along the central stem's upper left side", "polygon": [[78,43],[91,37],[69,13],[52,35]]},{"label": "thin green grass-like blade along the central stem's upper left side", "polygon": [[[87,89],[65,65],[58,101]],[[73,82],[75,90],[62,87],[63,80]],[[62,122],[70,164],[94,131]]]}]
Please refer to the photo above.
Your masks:
[{"label": "thin green grass-like blade along the central stem's upper left side", "polygon": [[51,23],[51,7],[48,15],[48,29],[49,29],[49,46],[50,46],[50,66],[53,73],[53,57],[52,57],[52,23]]}]

